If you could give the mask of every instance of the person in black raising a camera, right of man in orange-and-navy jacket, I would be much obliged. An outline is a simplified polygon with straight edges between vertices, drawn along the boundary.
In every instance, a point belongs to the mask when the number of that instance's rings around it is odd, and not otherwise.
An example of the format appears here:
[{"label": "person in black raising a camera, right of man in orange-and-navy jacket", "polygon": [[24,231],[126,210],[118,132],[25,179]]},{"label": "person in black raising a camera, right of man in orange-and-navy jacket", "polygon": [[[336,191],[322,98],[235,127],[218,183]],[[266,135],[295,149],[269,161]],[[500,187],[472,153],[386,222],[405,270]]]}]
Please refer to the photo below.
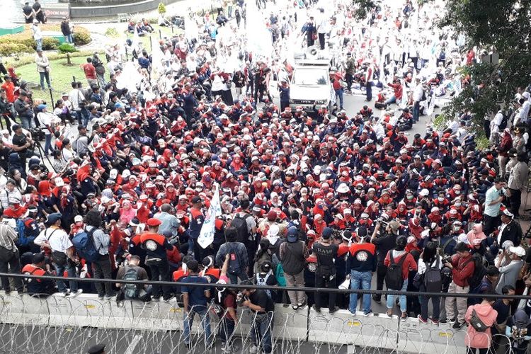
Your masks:
[{"label": "person in black raising a camera, right of man in orange-and-navy jacket", "polygon": [[[384,225],[384,234],[380,234],[380,229]],[[382,221],[376,223],[375,231],[372,232],[370,241],[375,244],[377,251],[377,267],[376,267],[376,290],[384,289],[384,279],[387,274],[387,267],[384,265],[387,253],[396,246],[396,237],[398,237],[399,223],[392,220],[388,224]],[[382,295],[372,295],[372,299],[378,304],[380,303]]]}]

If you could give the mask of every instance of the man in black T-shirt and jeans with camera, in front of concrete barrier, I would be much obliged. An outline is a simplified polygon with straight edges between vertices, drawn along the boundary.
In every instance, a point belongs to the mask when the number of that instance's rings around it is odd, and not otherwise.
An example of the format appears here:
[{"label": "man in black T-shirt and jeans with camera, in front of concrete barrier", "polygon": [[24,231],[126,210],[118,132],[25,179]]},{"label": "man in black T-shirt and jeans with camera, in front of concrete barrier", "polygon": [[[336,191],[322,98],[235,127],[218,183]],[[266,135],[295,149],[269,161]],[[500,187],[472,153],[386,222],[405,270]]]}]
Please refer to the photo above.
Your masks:
[{"label": "man in black T-shirt and jeans with camera, in front of concrete barrier", "polygon": [[[250,280],[246,284],[251,284]],[[273,350],[271,343],[271,333],[273,331],[273,312],[275,304],[265,290],[245,289],[238,294],[237,302],[239,306],[249,307],[253,312],[251,323],[251,340],[253,347],[250,353],[258,353],[259,349],[263,353],[269,354]]]}]

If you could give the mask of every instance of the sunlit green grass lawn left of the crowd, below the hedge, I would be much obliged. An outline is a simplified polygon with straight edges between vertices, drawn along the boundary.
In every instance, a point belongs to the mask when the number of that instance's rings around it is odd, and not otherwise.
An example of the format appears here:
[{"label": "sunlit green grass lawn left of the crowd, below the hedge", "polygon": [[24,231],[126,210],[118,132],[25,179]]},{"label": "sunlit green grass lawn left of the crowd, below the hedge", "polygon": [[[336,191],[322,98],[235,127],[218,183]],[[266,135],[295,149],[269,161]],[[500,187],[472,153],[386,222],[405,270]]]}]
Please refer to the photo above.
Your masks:
[{"label": "sunlit green grass lawn left of the crowd, below the hedge", "polygon": [[[76,76],[76,81],[81,81],[86,84],[85,74],[79,67],[80,64],[84,63],[86,63],[86,57],[75,57],[72,58],[72,65],[67,65],[66,55],[64,56],[64,59],[50,61],[50,81],[52,81],[53,97],[55,101],[61,98],[63,92],[68,92],[72,89],[72,86],[70,85],[72,82],[72,76]],[[15,72],[25,81],[35,84],[40,83],[40,76],[37,72],[36,64],[23,65],[16,68]],[[47,87],[46,82],[45,87]],[[48,89],[41,91],[40,87],[38,89],[33,89],[33,98],[41,98],[50,103],[50,91],[48,91]]]}]

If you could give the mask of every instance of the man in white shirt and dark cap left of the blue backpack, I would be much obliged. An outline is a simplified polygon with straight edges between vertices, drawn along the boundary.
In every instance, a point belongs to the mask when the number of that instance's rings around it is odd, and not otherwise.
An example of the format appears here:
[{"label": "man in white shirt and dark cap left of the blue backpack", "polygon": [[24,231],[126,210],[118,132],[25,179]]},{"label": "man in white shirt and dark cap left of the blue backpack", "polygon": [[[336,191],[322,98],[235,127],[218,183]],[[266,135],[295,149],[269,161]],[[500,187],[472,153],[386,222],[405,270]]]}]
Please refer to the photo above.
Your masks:
[{"label": "man in white shirt and dark cap left of the blue backpack", "polygon": [[[79,263],[79,258],[75,256],[74,245],[70,241],[68,234],[61,228],[62,214],[54,212],[48,215],[46,224],[49,225],[47,229],[42,230],[39,236],[33,241],[38,246],[46,246],[52,249],[53,264],[55,266],[55,273],[61,277],[64,270],[67,270],[69,278],[76,278],[76,263]],[[62,281],[57,281],[57,289],[62,292],[64,296],[79,295],[83,290],[77,287],[76,281],[70,282],[70,288]]]}]

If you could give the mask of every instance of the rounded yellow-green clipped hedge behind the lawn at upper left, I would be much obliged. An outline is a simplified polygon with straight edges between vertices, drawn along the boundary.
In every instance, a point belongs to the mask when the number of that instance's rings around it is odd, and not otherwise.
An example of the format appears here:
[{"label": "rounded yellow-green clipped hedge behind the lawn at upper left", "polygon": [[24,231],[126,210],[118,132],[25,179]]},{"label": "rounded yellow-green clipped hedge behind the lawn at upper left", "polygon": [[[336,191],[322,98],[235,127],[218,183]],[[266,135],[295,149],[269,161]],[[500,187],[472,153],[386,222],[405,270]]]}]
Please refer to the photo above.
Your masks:
[{"label": "rounded yellow-green clipped hedge behind the lawn at upper left", "polygon": [[[60,32],[61,27],[58,24],[40,25],[42,31]],[[84,27],[77,26],[74,28],[74,43],[76,45],[86,45],[91,42],[91,33]],[[59,40],[57,38],[42,38],[43,50],[57,50]],[[30,25],[25,25],[25,30],[15,35],[3,35],[0,37],[0,55],[11,55],[21,53],[35,52],[36,43],[33,40],[33,33]]]}]

